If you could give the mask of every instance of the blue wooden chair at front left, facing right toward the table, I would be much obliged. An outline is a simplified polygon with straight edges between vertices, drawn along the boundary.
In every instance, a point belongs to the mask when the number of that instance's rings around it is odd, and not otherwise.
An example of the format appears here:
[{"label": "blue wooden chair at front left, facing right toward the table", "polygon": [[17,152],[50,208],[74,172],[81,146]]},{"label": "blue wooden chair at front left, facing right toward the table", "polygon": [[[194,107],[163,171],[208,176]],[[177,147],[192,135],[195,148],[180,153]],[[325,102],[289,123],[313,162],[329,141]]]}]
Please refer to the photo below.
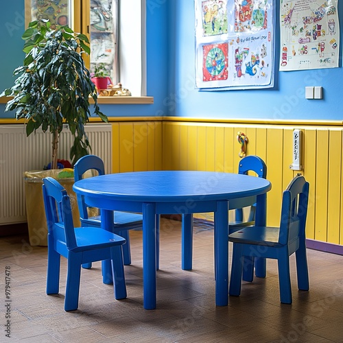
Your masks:
[{"label": "blue wooden chair at front left, facing right toward the table", "polygon": [[125,243],[107,230],[74,228],[67,191],[54,178],[43,178],[43,199],[47,217],[47,294],[58,294],[60,256],[68,260],[64,310],[78,309],[82,263],[112,260],[115,298],[126,298],[121,246]]}]

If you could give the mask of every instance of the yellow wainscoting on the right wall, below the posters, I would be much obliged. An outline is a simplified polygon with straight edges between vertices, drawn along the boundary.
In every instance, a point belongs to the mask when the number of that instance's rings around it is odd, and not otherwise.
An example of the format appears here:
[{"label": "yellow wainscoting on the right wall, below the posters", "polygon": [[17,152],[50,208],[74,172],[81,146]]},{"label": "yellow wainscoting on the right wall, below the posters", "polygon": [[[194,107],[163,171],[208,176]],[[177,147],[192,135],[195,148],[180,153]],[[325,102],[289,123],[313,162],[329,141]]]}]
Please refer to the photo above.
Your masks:
[{"label": "yellow wainscoting on the right wall, below the posters", "polygon": [[[296,125],[200,123],[163,121],[163,169],[216,170],[237,173],[240,144],[237,133],[248,137],[247,154],[265,161],[268,225],[279,225],[283,190],[296,174],[310,184],[307,237],[343,244],[342,127]],[[293,130],[303,132],[303,170],[292,164]],[[173,156],[172,160],[168,158]],[[178,156],[178,158],[177,158]],[[203,217],[212,219],[204,213]]]}]

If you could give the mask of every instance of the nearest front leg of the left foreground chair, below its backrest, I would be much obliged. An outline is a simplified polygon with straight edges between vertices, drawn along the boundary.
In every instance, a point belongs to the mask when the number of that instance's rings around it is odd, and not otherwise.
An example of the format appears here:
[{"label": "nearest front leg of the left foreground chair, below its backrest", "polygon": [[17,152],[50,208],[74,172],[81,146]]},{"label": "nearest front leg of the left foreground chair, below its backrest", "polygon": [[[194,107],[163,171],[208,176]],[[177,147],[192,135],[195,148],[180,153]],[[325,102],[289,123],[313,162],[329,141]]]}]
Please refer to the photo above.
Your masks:
[{"label": "nearest front leg of the left foreground chair, below its backrest", "polygon": [[68,253],[67,286],[65,289],[64,311],[78,309],[80,293],[82,253]]}]

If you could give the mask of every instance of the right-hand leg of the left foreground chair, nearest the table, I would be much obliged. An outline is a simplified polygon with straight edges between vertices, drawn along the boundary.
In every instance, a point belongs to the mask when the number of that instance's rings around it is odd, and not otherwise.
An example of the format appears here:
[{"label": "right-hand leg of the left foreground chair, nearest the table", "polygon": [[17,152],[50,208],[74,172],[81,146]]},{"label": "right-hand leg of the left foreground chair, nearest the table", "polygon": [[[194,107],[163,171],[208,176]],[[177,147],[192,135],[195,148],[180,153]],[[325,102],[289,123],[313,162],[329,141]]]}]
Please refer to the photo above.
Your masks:
[{"label": "right-hand leg of the left foreground chair, nearest the table", "polygon": [[110,249],[113,272],[113,285],[116,299],[125,299],[126,283],[123,268],[123,252],[121,246],[114,246]]}]

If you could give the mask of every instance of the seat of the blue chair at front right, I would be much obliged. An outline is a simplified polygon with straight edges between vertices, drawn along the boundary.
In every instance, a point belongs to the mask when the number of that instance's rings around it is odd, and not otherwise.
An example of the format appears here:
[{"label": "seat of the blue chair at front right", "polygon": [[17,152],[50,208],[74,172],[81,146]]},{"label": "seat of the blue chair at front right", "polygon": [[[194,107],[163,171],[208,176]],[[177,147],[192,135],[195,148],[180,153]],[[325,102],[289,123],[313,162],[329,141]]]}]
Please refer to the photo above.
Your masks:
[{"label": "seat of the blue chair at front right", "polygon": [[280,228],[272,226],[248,226],[228,235],[234,243],[255,244],[259,246],[281,246],[279,244]]}]

